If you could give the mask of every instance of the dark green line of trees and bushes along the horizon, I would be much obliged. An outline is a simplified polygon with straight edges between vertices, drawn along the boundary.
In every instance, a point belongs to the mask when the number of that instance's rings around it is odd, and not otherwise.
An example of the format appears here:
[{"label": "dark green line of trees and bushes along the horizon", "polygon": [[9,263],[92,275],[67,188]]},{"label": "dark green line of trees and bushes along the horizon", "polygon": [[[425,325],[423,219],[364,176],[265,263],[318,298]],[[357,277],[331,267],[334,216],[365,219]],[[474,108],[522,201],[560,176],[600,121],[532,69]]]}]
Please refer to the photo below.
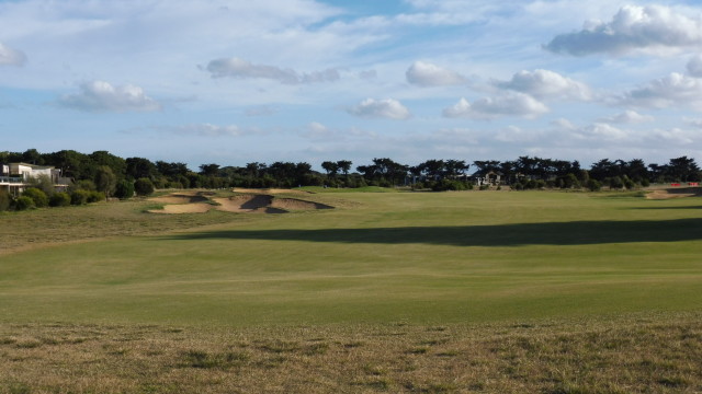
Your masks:
[{"label": "dark green line of trees and bushes along the horizon", "polygon": [[[701,177],[694,159],[688,157],[670,159],[663,164],[646,164],[642,159],[602,159],[590,167],[582,167],[578,161],[528,155],[512,161],[432,159],[417,165],[376,158],[355,169],[349,160],[325,161],[320,163],[324,172],[318,172],[307,162],[251,162],[244,166],[207,163],[193,171],[182,162],[152,162],[136,157],[123,159],[107,151],[81,153],[61,150],[41,153],[36,149],[29,149],[24,152],[0,152],[0,163],[14,162],[60,169],[63,176],[70,179],[66,193],[68,202],[66,196],[61,196],[63,201],[57,202],[64,205],[110,197],[128,198],[135,193],[148,195],[155,188],[408,186],[415,189],[460,190],[473,188],[476,183],[482,188],[496,187],[496,176],[499,176],[499,185],[507,184],[512,189],[585,187],[598,190],[601,187],[648,186],[650,183],[699,182]],[[488,179],[489,176],[492,178]],[[34,188],[44,190],[47,198],[53,197],[52,185],[46,179],[35,182]],[[12,202],[9,196],[0,196],[0,210]]]}]

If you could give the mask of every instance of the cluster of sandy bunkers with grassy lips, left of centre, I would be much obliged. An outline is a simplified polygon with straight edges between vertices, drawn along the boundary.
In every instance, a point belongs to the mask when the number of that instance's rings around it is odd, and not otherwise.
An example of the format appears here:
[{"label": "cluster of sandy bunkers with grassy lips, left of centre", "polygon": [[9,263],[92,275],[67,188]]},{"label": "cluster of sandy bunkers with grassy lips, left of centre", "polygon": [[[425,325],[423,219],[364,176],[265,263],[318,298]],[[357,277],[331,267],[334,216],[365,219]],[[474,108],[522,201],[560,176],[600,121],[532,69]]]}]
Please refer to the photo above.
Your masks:
[{"label": "cluster of sandy bunkers with grassy lips, left of centre", "polygon": [[[238,190],[238,189],[237,189]],[[285,190],[287,193],[290,190]],[[295,210],[332,209],[333,207],[296,198],[275,198],[267,194],[242,194],[231,197],[211,197],[213,193],[172,194],[151,198],[166,204],[163,209],[152,209],[154,213],[204,213],[211,209],[226,212],[287,213]],[[208,198],[211,197],[211,198]],[[216,204],[211,204],[214,201]]]}]

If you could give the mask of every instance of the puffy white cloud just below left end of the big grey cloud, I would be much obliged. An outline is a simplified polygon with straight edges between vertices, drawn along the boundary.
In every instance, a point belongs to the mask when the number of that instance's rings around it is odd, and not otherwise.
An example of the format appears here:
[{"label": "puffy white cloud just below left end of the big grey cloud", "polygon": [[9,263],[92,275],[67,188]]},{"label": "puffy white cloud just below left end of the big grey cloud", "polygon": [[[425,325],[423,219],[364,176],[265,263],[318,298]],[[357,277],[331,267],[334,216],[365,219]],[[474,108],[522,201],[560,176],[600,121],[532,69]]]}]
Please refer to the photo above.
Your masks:
[{"label": "puffy white cloud just below left end of the big grey cloud", "polygon": [[511,89],[539,99],[589,100],[590,89],[580,82],[548,70],[520,71],[497,86]]}]

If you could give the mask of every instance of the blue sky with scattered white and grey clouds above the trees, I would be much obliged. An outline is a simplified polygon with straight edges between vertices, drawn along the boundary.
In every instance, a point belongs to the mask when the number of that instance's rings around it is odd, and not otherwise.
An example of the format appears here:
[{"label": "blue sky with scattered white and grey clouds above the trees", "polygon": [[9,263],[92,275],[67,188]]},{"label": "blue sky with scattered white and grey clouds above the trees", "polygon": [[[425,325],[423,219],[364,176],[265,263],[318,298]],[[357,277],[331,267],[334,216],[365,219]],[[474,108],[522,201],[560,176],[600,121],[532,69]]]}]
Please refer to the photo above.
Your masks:
[{"label": "blue sky with scattered white and grey clouds above the trees", "polygon": [[0,0],[0,151],[702,160],[702,4]]}]

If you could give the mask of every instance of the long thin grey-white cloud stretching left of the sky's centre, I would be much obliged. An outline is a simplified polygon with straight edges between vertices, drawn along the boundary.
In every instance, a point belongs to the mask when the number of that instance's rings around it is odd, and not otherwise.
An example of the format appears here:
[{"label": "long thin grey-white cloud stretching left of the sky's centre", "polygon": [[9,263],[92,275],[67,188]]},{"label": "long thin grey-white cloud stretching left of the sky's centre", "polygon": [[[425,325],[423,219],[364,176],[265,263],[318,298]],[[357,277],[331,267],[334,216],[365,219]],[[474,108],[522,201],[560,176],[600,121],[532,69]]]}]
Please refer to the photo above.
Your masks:
[{"label": "long thin grey-white cloud stretching left of the sky's centre", "polygon": [[240,58],[215,59],[207,65],[212,78],[270,79],[284,84],[333,82],[339,80],[339,71],[327,69],[312,73],[298,73],[292,69],[274,66],[253,65]]}]

